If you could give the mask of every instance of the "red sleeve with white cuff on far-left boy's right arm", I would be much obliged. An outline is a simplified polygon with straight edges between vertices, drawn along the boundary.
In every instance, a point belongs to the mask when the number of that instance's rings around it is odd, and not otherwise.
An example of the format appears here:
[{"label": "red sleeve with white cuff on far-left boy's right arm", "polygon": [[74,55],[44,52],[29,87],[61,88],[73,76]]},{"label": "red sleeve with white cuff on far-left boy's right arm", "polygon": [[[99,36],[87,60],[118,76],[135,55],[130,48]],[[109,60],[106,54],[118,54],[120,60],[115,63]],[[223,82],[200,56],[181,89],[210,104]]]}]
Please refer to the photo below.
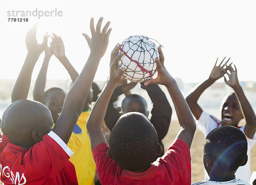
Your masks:
[{"label": "red sleeve with white cuff on far-left boy's right arm", "polygon": [[36,143],[26,153],[26,168],[31,166],[38,173],[48,178],[53,178],[64,167],[65,163],[72,156],[70,148],[55,134],[50,131],[43,137],[41,142]]}]

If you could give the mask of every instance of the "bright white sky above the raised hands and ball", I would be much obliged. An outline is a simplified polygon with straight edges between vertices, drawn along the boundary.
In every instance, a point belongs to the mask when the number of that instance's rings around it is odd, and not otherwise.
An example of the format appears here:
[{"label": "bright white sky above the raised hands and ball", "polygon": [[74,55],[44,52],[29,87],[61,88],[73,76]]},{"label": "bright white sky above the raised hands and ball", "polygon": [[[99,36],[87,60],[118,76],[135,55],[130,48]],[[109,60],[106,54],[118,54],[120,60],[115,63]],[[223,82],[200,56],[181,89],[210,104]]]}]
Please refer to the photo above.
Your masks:
[{"label": "bright white sky above the raised hands and ball", "polygon": [[[62,11],[62,17],[28,17],[28,22],[8,22],[7,11]],[[95,80],[109,74],[110,53],[116,43],[131,35],[157,40],[164,48],[165,65],[173,77],[185,82],[205,80],[216,58],[231,57],[239,80],[256,81],[255,0],[1,0],[0,79],[16,79],[26,57],[26,32],[38,25],[38,42],[49,31],[61,36],[70,63],[80,73],[90,49],[81,33],[90,35],[90,17],[104,17],[113,28],[108,50]],[[15,18],[15,17],[13,17]],[[16,17],[17,18],[17,17]],[[26,18],[21,17],[19,18]],[[95,23],[96,24],[96,23]],[[41,54],[32,74],[41,68]],[[253,75],[254,74],[254,75]],[[47,78],[69,79],[67,71],[52,57]]]}]

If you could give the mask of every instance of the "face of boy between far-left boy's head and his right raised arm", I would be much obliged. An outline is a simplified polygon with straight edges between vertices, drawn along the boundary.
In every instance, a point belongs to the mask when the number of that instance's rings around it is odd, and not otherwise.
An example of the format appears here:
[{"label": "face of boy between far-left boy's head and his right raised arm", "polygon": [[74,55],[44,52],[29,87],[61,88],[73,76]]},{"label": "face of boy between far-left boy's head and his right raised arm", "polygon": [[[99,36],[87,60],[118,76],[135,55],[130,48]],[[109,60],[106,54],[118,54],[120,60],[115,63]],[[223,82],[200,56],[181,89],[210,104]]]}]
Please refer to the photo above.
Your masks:
[{"label": "face of boy between far-left boy's head and his right raised arm", "polygon": [[66,93],[62,90],[49,92],[46,97],[45,106],[51,111],[53,122],[56,122],[61,114],[65,97]]}]

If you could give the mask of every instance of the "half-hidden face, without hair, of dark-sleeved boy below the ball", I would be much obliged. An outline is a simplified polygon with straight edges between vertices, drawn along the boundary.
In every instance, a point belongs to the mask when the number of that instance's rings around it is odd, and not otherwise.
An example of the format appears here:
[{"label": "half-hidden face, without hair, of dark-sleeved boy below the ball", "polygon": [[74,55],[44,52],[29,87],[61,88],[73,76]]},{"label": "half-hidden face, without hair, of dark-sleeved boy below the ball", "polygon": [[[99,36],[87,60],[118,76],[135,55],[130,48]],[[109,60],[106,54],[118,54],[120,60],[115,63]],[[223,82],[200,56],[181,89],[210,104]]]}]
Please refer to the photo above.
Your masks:
[{"label": "half-hidden face, without hair, of dark-sleeved boy below the ball", "polygon": [[126,102],[122,107],[123,113],[128,112],[140,112],[148,117],[147,105],[145,102],[140,99],[131,99],[130,101]]}]

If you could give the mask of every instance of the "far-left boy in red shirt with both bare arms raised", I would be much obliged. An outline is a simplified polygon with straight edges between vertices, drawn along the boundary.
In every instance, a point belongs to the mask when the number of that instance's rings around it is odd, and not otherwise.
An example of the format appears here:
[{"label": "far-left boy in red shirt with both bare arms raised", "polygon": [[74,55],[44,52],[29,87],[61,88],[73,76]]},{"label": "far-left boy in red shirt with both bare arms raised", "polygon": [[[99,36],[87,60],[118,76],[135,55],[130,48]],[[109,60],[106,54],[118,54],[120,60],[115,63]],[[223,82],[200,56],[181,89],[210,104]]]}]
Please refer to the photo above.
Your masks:
[{"label": "far-left boy in red shirt with both bare arms raised", "polygon": [[105,54],[111,28],[108,22],[101,31],[103,18],[94,28],[92,38],[84,34],[90,56],[81,74],[68,92],[55,127],[49,109],[40,102],[26,100],[31,74],[44,50],[36,40],[37,25],[26,36],[28,54],[12,90],[12,104],[3,113],[0,142],[0,171],[4,184],[78,184],[76,171],[69,158],[73,152],[67,142],[84,106],[99,60]]}]

